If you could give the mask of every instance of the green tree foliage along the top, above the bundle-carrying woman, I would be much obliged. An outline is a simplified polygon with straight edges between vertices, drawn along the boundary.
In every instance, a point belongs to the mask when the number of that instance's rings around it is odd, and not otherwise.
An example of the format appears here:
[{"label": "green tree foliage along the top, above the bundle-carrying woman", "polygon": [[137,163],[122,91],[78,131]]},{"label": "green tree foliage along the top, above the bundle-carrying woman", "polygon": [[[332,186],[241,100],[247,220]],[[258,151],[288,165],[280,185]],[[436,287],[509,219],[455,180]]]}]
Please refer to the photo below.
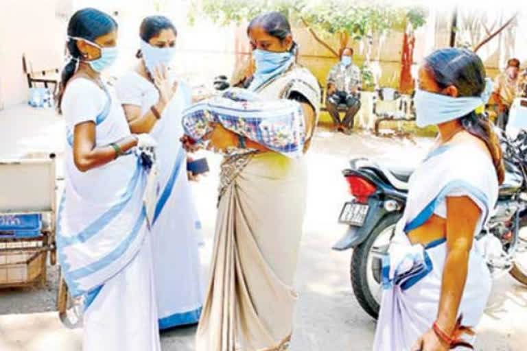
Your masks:
[{"label": "green tree foliage along the top, above the bundle-carrying woman", "polygon": [[[198,1],[198,0],[194,0]],[[353,40],[370,33],[403,30],[407,21],[417,29],[428,15],[423,8],[401,8],[353,0],[201,0],[201,12],[215,23],[229,25],[250,21],[258,14],[279,11],[298,24],[305,21],[313,29],[327,34],[348,32]],[[194,9],[198,9],[197,2]],[[194,21],[196,11],[189,17]]]}]

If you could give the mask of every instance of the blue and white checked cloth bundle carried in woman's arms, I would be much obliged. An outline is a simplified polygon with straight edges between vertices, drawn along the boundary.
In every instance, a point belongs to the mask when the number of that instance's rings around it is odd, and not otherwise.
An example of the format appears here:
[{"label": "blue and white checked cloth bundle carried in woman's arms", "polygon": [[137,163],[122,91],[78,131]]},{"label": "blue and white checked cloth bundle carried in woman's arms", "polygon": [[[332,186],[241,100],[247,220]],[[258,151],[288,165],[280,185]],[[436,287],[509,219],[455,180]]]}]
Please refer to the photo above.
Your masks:
[{"label": "blue and white checked cloth bundle carried in woman's arms", "polygon": [[[231,88],[183,111],[185,134],[195,141],[201,142],[213,130],[212,123],[290,158],[303,154],[305,121],[297,101],[264,100],[249,90]],[[229,155],[248,151],[235,147],[225,150]]]}]

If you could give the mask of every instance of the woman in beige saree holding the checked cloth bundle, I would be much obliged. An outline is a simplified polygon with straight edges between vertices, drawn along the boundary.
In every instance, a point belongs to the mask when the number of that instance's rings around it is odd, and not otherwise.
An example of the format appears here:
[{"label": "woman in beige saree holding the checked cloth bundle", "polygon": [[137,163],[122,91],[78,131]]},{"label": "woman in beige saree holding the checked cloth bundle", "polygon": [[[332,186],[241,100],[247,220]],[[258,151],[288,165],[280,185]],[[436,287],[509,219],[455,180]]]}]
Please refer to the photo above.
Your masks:
[{"label": "woman in beige saree holding the checked cloth bundle", "polygon": [[318,119],[320,88],[296,64],[282,14],[257,16],[247,33],[255,60],[249,91],[228,91],[183,117],[193,139],[202,125],[194,117],[222,121],[200,140],[227,155],[198,351],[286,350],[292,333],[306,202],[303,155]]}]

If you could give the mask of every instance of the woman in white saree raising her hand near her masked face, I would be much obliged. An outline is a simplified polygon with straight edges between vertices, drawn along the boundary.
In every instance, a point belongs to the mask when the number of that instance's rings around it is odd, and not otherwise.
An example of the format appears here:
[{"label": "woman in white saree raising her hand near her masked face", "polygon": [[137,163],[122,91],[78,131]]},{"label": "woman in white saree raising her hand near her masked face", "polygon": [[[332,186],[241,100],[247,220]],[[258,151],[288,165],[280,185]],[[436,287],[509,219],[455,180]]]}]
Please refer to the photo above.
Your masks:
[{"label": "woman in white saree raising her hand near her masked face", "polygon": [[160,196],[152,228],[159,328],[196,324],[203,302],[198,252],[201,225],[187,178],[181,111],[191,89],[167,66],[174,58],[176,28],[164,16],[148,16],[139,31],[139,62],[117,82],[130,130],[150,133],[159,143]]}]

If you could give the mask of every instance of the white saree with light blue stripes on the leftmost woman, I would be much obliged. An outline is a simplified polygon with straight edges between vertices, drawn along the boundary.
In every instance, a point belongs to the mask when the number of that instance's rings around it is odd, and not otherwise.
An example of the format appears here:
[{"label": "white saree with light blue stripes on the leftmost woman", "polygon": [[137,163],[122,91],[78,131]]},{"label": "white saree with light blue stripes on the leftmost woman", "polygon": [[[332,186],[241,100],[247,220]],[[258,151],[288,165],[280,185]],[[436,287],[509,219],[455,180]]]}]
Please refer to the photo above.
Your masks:
[{"label": "white saree with light blue stripes on the leftmost woman", "polygon": [[[121,105],[105,89],[78,78],[64,95],[66,176],[58,211],[58,258],[69,292],[84,298],[84,351],[158,351],[150,229],[143,205],[147,173],[133,153],[86,172],[73,160],[78,123],[95,123],[96,145],[130,135]],[[97,116],[83,110],[97,101],[102,101]]]}]

